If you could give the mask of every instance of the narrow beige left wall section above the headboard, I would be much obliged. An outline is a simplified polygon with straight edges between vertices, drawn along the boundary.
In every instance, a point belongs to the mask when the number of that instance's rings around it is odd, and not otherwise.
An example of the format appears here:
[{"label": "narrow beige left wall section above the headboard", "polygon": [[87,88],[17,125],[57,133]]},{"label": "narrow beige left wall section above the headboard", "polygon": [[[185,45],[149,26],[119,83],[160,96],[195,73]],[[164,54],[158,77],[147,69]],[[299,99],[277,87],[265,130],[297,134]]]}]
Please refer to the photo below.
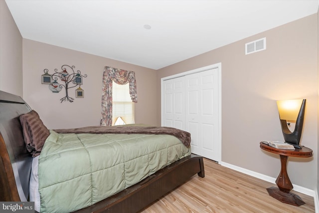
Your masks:
[{"label": "narrow beige left wall section above the headboard", "polygon": [[0,90],[22,97],[22,36],[0,0]]}]

